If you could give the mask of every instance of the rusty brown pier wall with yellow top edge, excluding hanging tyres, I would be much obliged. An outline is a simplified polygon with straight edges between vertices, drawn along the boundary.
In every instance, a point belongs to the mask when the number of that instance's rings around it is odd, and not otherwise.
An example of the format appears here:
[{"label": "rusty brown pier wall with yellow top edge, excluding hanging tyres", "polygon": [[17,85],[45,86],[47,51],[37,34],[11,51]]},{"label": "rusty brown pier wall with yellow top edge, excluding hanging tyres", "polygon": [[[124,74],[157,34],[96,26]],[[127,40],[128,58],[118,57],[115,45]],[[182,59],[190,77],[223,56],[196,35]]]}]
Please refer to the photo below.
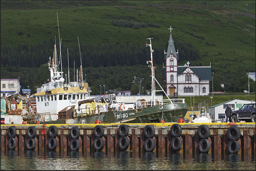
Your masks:
[{"label": "rusty brown pier wall with yellow top edge, excluding hanging tyres", "polygon": [[[171,134],[172,125],[179,124],[182,133],[177,137],[173,137]],[[104,129],[104,135],[102,138],[104,145],[100,150],[95,149],[96,140],[94,128],[97,125],[101,125]],[[75,148],[76,151],[93,152],[93,151],[147,151],[145,149],[144,143],[146,139],[144,127],[146,125],[152,125],[155,131],[152,140],[154,142],[149,143],[149,149],[152,144],[155,144],[155,148],[152,151],[165,152],[172,151],[176,153],[202,153],[202,147],[200,149],[200,136],[198,135],[198,128],[200,125],[206,125],[209,128],[209,136],[206,140],[209,145],[209,150],[207,153],[221,154],[230,153],[228,150],[228,143],[231,141],[228,137],[228,128],[231,126],[236,126],[239,129],[240,135],[239,139],[236,140],[239,144],[239,150],[237,153],[244,154],[255,154],[255,123],[135,123],[135,124],[125,124],[129,128],[128,138],[129,146],[125,149],[120,147],[120,134],[118,132],[119,126],[121,124],[23,124],[23,125],[1,125],[1,150],[8,150],[8,142],[10,137],[8,134],[8,128],[14,126],[16,135],[14,139],[16,140],[17,151],[29,150],[26,145],[28,141],[28,128],[34,126],[36,130],[36,135],[34,136],[35,147],[31,150],[38,152],[52,151],[49,149],[48,140],[51,138],[49,135],[49,127],[56,126],[57,135],[53,137],[56,139],[56,148],[53,150],[59,151],[60,153],[67,153],[67,151],[72,151]],[[74,139],[71,135],[71,129],[77,127],[79,129],[79,137],[76,138],[79,141],[79,149],[76,149],[76,145],[70,145],[71,140]],[[230,133],[229,133],[230,134]],[[127,139],[126,138],[126,139]],[[175,150],[175,146],[172,143],[172,139],[176,138],[181,140],[181,147]],[[33,138],[32,138],[33,139]],[[126,140],[125,139],[125,140]],[[73,140],[74,141],[74,140]],[[77,142],[77,141],[76,141]],[[55,142],[53,142],[54,145]],[[126,142],[127,143],[127,142]],[[176,142],[179,144],[179,141]],[[9,145],[10,146],[10,145]],[[70,147],[72,146],[72,147]],[[98,146],[101,146],[99,144]],[[204,147],[203,147],[204,148]],[[233,146],[229,147],[233,148]]]}]

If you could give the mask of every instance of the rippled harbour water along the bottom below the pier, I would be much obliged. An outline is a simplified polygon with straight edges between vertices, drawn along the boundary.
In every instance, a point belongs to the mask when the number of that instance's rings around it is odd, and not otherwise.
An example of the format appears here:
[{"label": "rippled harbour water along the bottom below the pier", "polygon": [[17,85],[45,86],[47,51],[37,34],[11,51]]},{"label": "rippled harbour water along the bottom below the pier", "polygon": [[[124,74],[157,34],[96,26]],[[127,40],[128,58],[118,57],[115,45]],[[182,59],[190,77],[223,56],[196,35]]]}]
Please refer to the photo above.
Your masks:
[{"label": "rippled harbour water along the bottom below the pier", "polygon": [[255,170],[255,154],[1,150],[1,170]]}]

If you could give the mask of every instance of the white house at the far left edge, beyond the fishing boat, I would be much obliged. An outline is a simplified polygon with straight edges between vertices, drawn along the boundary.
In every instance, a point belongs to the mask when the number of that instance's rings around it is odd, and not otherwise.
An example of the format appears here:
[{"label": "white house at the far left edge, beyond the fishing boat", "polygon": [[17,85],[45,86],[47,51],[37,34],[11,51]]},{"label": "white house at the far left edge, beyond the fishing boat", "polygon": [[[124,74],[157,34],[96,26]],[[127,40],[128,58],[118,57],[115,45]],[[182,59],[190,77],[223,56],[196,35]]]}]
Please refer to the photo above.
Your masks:
[{"label": "white house at the far left edge, beyond the fishing boat", "polygon": [[1,97],[20,93],[18,79],[1,79]]}]

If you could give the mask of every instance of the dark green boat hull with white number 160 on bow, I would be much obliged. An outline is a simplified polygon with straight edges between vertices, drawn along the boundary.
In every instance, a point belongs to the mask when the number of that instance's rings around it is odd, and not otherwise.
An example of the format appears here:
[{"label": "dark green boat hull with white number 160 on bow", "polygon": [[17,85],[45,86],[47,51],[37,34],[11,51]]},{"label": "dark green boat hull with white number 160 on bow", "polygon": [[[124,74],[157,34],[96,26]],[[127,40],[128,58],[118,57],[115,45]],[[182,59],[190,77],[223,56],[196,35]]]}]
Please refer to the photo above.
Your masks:
[{"label": "dark green boat hull with white number 160 on bow", "polygon": [[163,104],[142,109],[130,109],[125,111],[108,111],[99,115],[85,115],[73,119],[62,119],[56,121],[41,122],[42,124],[76,124],[84,119],[84,123],[95,123],[99,120],[101,123],[159,123],[177,122],[179,118],[184,118],[188,107],[186,103]]}]

